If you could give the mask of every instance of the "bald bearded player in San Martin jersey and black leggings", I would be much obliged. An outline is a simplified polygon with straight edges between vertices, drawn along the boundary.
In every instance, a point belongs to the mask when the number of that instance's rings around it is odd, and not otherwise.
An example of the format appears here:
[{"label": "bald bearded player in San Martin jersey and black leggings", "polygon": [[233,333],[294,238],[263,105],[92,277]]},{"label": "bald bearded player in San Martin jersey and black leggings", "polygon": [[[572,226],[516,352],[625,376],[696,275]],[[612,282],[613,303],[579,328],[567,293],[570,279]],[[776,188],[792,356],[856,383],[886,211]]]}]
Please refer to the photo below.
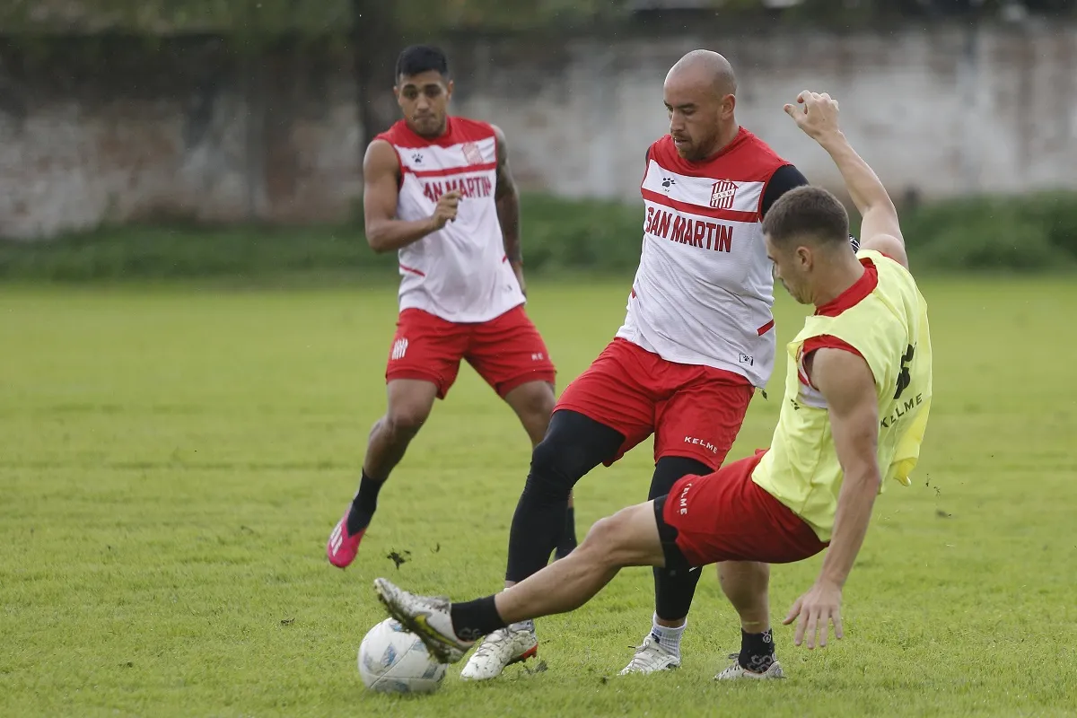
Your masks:
[{"label": "bald bearded player in San Martin jersey and black leggings", "polygon": [[[646,153],[643,252],[628,314],[565,388],[532,453],[509,534],[506,586],[547,563],[576,481],[652,434],[649,498],[685,475],[717,469],[755,388],[770,377],[773,278],[760,223],[779,197],[808,181],[738,125],[737,80],[717,53],[685,55],[663,93],[670,131]],[[698,571],[655,569],[653,625],[624,672],[681,664],[698,580]],[[760,631],[745,642],[764,638]],[[461,676],[493,678],[534,656],[537,645],[532,621],[513,623],[486,637]]]}]

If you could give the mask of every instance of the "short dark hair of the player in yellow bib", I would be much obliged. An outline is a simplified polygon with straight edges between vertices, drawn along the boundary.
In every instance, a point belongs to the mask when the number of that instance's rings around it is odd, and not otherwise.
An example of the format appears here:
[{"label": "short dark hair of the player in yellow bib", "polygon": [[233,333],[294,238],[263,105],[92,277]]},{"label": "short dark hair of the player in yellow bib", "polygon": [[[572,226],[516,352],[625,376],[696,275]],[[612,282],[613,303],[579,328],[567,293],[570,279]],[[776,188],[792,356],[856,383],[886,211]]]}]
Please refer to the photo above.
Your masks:
[{"label": "short dark hair of the player in yellow bib", "polygon": [[809,239],[819,244],[848,245],[849,213],[826,189],[806,185],[785,193],[770,207],[763,230],[775,244]]}]

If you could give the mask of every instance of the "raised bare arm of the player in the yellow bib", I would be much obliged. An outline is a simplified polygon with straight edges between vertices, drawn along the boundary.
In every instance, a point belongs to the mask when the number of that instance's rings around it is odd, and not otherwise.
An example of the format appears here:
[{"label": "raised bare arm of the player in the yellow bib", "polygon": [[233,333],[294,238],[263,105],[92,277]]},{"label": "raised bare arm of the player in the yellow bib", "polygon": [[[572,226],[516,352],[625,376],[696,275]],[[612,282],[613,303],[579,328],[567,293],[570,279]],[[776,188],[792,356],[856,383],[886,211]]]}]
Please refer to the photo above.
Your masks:
[{"label": "raised bare arm of the player in the yellow bib", "polygon": [[838,166],[845,188],[856,205],[861,223],[861,248],[876,250],[909,266],[905,240],[897,220],[897,209],[875,171],[856,154],[838,126],[838,102],[826,93],[802,91],[797,104],[786,104],[785,112],[797,126],[829,153]]}]

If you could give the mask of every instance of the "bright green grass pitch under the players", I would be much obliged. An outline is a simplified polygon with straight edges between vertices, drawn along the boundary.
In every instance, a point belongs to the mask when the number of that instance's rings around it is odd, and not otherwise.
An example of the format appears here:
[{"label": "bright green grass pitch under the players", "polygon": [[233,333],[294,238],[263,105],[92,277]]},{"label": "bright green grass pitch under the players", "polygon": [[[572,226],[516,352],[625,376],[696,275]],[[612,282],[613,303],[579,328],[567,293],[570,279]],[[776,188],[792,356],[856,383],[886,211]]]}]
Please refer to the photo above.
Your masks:
[{"label": "bright green grass pitch under the players", "polygon": [[[359,680],[355,650],[383,617],[370,581],[498,589],[529,448],[462,370],[356,563],[328,566],[383,409],[390,286],[0,290],[0,715],[1074,715],[1077,286],[923,288],[932,423],[914,485],[877,504],[843,642],[810,653],[779,625],[788,680],[714,684],[739,633],[709,571],[684,667],[619,678],[653,605],[649,571],[628,569],[540,622],[542,664],[486,685],[452,666],[424,699]],[[612,336],[625,294],[533,283],[559,388]],[[782,297],[782,341],[802,313]],[[766,446],[779,386],[731,457]],[[577,485],[581,535],[645,497],[649,449]],[[397,568],[390,551],[410,553]],[[775,619],[819,564],[774,569]]]}]

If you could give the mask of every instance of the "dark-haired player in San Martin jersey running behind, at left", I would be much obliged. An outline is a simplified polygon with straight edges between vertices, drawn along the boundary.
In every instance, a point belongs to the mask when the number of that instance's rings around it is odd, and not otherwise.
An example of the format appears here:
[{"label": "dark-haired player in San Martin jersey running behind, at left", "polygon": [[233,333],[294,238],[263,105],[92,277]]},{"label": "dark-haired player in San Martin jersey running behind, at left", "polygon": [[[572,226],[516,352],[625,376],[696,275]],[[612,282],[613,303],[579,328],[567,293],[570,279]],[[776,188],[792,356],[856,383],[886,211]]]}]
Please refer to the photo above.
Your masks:
[{"label": "dark-haired player in San Martin jersey running behind, at left", "polygon": [[[359,491],[330,535],[330,563],[355,558],[378,492],[466,360],[537,445],[554,408],[555,368],[524,313],[519,196],[500,128],[450,117],[453,83],[435,47],[396,61],[404,118],[363,159],[366,239],[400,256],[400,319],[389,352],[389,407],[375,423]],[[562,507],[563,509],[564,507]],[[562,511],[557,555],[575,546]],[[549,552],[547,552],[547,560]]]}]

